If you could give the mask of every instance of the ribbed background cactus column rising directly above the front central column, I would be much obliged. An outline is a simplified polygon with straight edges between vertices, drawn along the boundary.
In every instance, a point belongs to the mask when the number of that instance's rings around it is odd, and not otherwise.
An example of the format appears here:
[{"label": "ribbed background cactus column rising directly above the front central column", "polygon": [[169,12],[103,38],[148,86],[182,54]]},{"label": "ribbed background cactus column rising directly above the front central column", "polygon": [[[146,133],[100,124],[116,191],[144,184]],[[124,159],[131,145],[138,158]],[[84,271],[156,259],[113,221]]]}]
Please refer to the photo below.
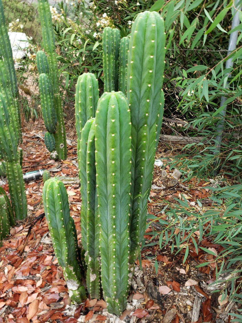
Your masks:
[{"label": "ribbed background cactus column rising directly above the front central column", "polygon": [[103,74],[104,91],[118,90],[120,31],[105,27],[103,31]]}]

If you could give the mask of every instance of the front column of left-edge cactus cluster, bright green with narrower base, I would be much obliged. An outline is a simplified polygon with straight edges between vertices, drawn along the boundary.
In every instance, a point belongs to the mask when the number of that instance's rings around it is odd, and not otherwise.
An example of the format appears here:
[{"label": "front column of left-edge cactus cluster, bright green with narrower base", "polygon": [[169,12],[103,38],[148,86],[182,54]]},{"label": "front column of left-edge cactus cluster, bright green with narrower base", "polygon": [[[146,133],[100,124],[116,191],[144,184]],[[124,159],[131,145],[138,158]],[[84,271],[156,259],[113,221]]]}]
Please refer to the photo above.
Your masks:
[{"label": "front column of left-edge cactus cluster, bright green with narrower base", "polygon": [[20,164],[21,152],[18,151],[18,140],[19,137],[14,131],[5,98],[0,94],[0,149],[6,162],[9,193],[15,217],[22,220],[27,215],[27,200]]}]

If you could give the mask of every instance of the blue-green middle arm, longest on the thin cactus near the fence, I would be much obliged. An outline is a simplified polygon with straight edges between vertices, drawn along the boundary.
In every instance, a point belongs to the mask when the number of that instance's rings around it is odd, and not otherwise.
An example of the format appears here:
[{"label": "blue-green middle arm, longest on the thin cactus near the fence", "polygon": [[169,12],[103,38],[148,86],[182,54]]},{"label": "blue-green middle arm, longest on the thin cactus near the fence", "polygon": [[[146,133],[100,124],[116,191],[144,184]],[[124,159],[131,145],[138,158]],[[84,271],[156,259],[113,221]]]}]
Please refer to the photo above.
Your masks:
[{"label": "blue-green middle arm, longest on the thin cactus near the fence", "polygon": [[49,77],[45,73],[39,76],[39,93],[45,127],[48,132],[55,133],[57,118],[54,106],[54,94]]}]

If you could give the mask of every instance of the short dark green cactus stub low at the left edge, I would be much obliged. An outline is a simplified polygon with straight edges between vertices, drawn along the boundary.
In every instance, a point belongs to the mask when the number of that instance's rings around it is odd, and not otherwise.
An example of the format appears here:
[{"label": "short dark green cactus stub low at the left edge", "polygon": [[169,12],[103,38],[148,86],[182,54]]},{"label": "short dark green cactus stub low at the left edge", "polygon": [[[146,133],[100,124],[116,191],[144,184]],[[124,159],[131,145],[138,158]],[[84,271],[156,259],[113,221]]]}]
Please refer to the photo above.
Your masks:
[{"label": "short dark green cactus stub low at the left edge", "polygon": [[15,225],[13,210],[5,190],[0,187],[0,240],[9,234],[10,226]]}]

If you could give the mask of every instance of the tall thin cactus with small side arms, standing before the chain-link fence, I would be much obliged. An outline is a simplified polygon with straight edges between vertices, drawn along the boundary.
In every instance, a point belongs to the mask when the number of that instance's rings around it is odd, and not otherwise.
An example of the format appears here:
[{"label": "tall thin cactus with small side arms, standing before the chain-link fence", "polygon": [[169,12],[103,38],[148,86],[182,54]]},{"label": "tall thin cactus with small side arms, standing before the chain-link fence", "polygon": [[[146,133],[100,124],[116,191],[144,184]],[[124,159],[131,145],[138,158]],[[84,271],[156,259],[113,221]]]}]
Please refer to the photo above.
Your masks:
[{"label": "tall thin cactus with small side arms, standing before the chain-link fence", "polygon": [[41,109],[47,130],[45,144],[52,158],[64,160],[67,155],[66,130],[59,88],[55,37],[48,0],[38,0],[38,12],[45,50],[45,52],[38,51],[36,56]]}]

